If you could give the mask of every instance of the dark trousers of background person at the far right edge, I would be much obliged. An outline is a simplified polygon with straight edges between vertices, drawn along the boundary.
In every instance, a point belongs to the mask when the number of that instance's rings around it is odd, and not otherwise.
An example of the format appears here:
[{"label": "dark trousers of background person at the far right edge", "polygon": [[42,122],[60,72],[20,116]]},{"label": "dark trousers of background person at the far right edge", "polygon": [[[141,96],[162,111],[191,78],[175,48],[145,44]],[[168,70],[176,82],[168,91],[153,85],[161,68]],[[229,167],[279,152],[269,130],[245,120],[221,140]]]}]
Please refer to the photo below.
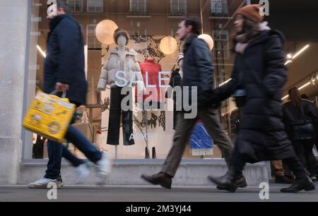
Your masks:
[{"label": "dark trousers of background person at the far right edge", "polygon": [[310,174],[316,174],[316,158],[312,153],[314,140],[293,140],[293,147],[300,162],[308,169]]}]

